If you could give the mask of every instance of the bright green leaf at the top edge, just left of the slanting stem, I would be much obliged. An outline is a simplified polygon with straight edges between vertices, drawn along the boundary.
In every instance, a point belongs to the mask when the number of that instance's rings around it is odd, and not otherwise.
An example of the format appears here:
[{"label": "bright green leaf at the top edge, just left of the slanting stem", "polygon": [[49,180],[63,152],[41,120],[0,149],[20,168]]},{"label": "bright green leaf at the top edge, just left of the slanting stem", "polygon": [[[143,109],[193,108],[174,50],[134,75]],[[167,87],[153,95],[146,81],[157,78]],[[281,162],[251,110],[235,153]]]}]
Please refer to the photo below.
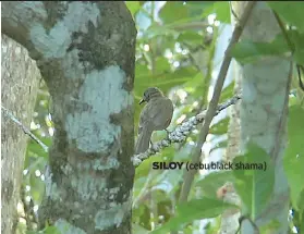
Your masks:
[{"label": "bright green leaf at the top edge, just left of the slanting stem", "polygon": [[228,1],[216,1],[204,11],[203,16],[206,17],[212,13],[216,13],[218,21],[230,24],[230,7]]}]

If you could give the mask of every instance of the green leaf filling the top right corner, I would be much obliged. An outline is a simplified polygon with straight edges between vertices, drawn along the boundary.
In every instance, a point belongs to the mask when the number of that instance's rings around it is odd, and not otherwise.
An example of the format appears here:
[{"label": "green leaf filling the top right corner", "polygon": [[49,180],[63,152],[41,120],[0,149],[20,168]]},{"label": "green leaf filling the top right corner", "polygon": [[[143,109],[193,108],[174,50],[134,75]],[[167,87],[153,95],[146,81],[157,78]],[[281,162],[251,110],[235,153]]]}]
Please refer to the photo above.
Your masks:
[{"label": "green leaf filling the top right corner", "polygon": [[303,11],[304,2],[268,1],[268,5],[287,23],[304,33]]}]

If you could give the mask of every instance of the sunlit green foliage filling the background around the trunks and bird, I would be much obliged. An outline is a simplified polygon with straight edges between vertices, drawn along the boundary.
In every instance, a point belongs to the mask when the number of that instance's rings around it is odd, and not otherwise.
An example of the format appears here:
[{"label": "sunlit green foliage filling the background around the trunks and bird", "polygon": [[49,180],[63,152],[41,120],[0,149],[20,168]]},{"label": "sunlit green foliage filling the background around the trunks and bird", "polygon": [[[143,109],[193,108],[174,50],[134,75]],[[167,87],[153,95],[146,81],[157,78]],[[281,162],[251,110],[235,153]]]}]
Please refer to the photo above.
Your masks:
[{"label": "sunlit green foliage filling the background around the trunks and bird", "polygon": [[[223,1],[200,2],[151,2],[127,1],[137,26],[136,67],[134,81],[135,125],[138,123],[141,106],[137,104],[144,90],[149,86],[159,87],[174,102],[175,111],[170,127],[174,127],[184,119],[198,113],[207,107],[208,88],[215,70],[214,56],[219,25],[230,23],[230,8]],[[284,23],[296,26],[288,34],[294,45],[294,59],[304,64],[302,2],[268,2],[282,17]],[[233,48],[233,57],[241,63],[258,60],[262,56],[278,56],[290,51],[283,35],[279,35],[269,44],[241,41]],[[221,94],[221,102],[233,96],[234,84],[226,86]],[[291,99],[289,119],[289,145],[284,159],[284,168],[291,187],[293,224],[299,226],[304,221],[304,187],[302,177],[304,165],[303,149],[303,108],[301,94]],[[53,125],[51,122],[50,100],[47,87],[41,83],[37,99],[32,131],[47,145],[51,145]],[[210,156],[219,153],[227,147],[229,118],[220,118],[210,128]],[[137,127],[137,126],[136,126]],[[135,131],[136,132],[136,131]],[[155,133],[153,140],[161,139],[165,133]],[[255,146],[250,147],[245,157],[235,160],[253,162],[267,161],[266,172],[262,171],[223,171],[198,177],[191,192],[190,201],[179,205],[178,198],[183,181],[183,171],[151,170],[153,161],[189,161],[191,150],[197,138],[197,131],[181,145],[161,151],[146,160],[136,169],[134,181],[133,232],[167,233],[169,230],[184,230],[192,233],[198,227],[194,220],[215,218],[232,205],[216,199],[217,189],[227,181],[235,183],[235,188],[244,201],[251,217],[256,217],[267,204],[273,184],[273,168],[268,156]],[[296,157],[295,157],[296,156]],[[257,157],[257,158],[255,158]],[[28,144],[24,165],[24,187],[26,197],[39,206],[44,196],[45,165],[48,155],[33,140]],[[265,185],[263,184],[265,183]],[[197,194],[199,196],[197,196]],[[35,207],[36,208],[36,207]],[[235,207],[234,207],[235,208]],[[304,222],[303,222],[304,223]],[[24,229],[24,227],[23,227]],[[211,232],[212,225],[206,225]],[[304,227],[302,227],[304,229]],[[45,233],[53,233],[51,227]],[[25,233],[24,231],[20,231]],[[28,232],[35,233],[35,232]]]}]

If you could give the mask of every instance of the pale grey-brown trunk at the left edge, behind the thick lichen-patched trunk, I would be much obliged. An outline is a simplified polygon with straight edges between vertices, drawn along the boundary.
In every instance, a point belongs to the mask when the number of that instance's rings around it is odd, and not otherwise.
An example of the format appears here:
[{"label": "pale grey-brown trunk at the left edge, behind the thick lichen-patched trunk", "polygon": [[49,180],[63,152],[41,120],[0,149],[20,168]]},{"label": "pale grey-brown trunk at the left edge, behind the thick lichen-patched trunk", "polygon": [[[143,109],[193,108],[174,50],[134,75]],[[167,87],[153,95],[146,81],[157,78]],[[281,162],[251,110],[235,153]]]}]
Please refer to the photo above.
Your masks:
[{"label": "pale grey-brown trunk at the left edge, behind the thick lichen-patched trunk", "polygon": [[[5,35],[1,50],[1,106],[29,126],[40,73],[27,50]],[[28,136],[3,111],[1,130],[1,231],[11,234],[15,233],[19,221],[16,207]]]}]

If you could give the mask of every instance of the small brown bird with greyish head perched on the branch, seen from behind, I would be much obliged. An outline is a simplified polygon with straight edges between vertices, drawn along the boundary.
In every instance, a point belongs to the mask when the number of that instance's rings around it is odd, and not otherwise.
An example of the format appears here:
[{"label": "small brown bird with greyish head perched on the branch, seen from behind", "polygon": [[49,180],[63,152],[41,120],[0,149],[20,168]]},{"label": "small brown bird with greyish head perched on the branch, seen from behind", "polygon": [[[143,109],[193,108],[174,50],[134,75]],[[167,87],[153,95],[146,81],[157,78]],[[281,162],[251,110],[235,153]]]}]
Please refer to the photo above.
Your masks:
[{"label": "small brown bird with greyish head perched on the branch, seen from behind", "polygon": [[172,101],[165,97],[156,87],[150,87],[145,90],[139,104],[145,101],[147,104],[142,110],[139,116],[135,155],[145,152],[149,148],[153,132],[166,130],[170,125],[173,114]]}]

